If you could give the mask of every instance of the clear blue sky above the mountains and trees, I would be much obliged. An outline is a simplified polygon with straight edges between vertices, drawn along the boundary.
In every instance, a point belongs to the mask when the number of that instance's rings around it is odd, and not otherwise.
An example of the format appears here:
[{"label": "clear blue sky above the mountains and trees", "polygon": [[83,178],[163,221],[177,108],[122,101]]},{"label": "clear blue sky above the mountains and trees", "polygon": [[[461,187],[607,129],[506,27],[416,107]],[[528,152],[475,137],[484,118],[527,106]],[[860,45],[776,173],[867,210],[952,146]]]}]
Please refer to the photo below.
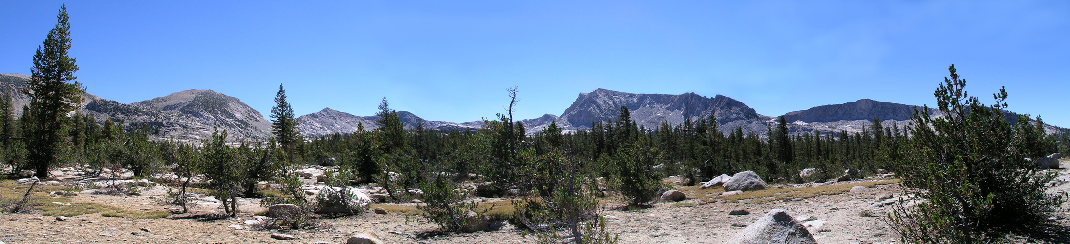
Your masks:
[{"label": "clear blue sky above the mountains and trees", "polygon": [[[0,73],[29,74],[64,2],[0,1]],[[560,115],[581,92],[696,92],[766,116],[872,98],[935,105],[956,64],[991,104],[1070,127],[1068,1],[70,1],[89,92],[188,89],[266,115]]]}]

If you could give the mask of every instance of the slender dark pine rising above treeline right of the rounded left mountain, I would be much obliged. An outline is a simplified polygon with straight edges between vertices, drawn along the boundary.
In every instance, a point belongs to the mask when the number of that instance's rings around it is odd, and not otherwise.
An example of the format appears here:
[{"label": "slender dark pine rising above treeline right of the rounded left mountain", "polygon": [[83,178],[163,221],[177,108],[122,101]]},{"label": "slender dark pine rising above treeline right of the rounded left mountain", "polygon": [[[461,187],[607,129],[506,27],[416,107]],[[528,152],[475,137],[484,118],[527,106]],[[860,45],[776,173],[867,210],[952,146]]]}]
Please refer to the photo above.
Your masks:
[{"label": "slender dark pine rising above treeline right of the rounded left mountain", "polygon": [[275,93],[275,106],[271,108],[271,131],[275,134],[275,140],[282,151],[284,158],[290,164],[296,163],[299,157],[297,147],[304,143],[301,132],[297,131],[297,119],[293,117],[293,108],[286,101],[286,90],[282,85],[278,85],[278,93]]}]

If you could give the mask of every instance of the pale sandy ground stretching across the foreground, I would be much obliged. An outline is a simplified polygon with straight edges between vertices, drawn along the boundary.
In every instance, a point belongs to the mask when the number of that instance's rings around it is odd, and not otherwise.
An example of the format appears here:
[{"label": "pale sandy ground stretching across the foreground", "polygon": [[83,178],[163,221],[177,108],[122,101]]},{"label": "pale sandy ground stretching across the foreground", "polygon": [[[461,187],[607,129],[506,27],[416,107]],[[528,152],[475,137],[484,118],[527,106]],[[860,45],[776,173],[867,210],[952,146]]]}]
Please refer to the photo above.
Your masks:
[{"label": "pale sandy ground stretching across the foreground", "polygon": [[[1064,162],[1068,164],[1070,162]],[[1070,179],[1070,170],[1059,170]],[[863,180],[865,181],[865,180]],[[849,181],[844,184],[862,181]],[[1070,192],[1070,185],[1050,188],[1052,192]],[[882,201],[881,196],[899,196],[899,184],[880,185],[860,193],[815,195],[792,200],[774,200],[762,203],[717,201],[688,208],[673,207],[673,202],[657,203],[642,211],[606,211],[609,230],[620,233],[620,243],[724,243],[747,225],[773,209],[784,209],[796,217],[824,219],[821,228],[810,228],[819,243],[897,243],[898,237],[883,217],[886,208],[871,208]],[[74,201],[94,201],[141,211],[173,209],[158,201],[164,189],[146,190],[146,196],[108,196],[80,194],[68,197]],[[151,198],[150,198],[151,197]],[[698,200],[689,200],[699,202]],[[134,219],[104,217],[100,214],[74,216],[66,220],[37,214],[0,215],[0,241],[6,243],[345,243],[356,232],[370,231],[386,243],[533,243],[520,230],[506,227],[496,231],[475,233],[433,233],[438,227],[416,216],[397,213],[386,215],[366,213],[357,216],[327,218],[322,227],[305,231],[288,231],[300,240],[271,239],[273,231],[250,230],[243,224],[251,213],[263,211],[258,199],[243,199],[243,214],[236,218],[198,220],[167,218]],[[192,209],[192,214],[217,210],[218,204],[205,203]],[[729,211],[744,208],[747,215],[729,215]],[[860,216],[870,210],[880,217]],[[221,211],[220,211],[221,212]],[[181,215],[179,215],[181,216]],[[1060,213],[1067,222],[1067,213]],[[235,227],[240,227],[235,228]]]}]

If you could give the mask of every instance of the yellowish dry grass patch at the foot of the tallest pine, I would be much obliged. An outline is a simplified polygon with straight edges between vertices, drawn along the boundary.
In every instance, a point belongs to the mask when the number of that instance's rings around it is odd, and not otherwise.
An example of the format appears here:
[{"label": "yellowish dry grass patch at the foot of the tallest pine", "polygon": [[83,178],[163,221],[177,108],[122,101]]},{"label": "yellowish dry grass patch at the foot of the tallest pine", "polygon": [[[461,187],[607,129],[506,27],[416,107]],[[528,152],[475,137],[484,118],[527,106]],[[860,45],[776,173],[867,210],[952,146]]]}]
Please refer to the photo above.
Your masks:
[{"label": "yellowish dry grass patch at the foot of the tallest pine", "polygon": [[[0,195],[0,208],[5,211],[21,201],[24,194],[26,194],[26,190],[30,187],[29,185],[12,184],[15,181],[13,180],[0,180],[0,188],[2,188],[3,192],[3,194]],[[101,213],[101,215],[107,217],[156,218],[165,217],[169,214],[162,211],[141,212],[127,210],[96,202],[72,202],[70,198],[52,197],[46,194],[57,190],[73,190],[73,188],[68,186],[34,186],[34,193],[31,194],[30,199],[24,208],[41,211],[41,214],[45,216],[68,217],[82,214]]]}]

